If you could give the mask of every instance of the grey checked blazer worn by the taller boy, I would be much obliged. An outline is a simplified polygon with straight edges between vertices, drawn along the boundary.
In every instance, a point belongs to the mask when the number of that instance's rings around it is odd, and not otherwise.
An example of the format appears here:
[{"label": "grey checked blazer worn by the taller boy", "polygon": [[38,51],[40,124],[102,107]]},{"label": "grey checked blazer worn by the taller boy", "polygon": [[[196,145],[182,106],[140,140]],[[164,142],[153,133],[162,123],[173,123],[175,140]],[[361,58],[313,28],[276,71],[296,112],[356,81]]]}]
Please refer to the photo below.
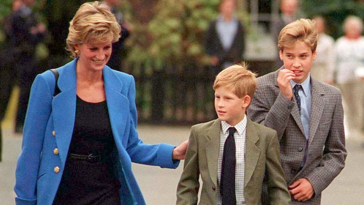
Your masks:
[{"label": "grey checked blazer worn by the taller boy", "polygon": [[308,149],[305,165],[300,169],[306,138],[296,101],[294,98],[288,100],[279,90],[278,72],[258,78],[248,116],[277,131],[287,184],[299,178],[311,182],[315,192],[313,198],[306,202],[294,201],[292,198],[292,204],[319,205],[321,192],[344,168],[347,156],[341,93],[331,85],[310,78],[312,98]]}]

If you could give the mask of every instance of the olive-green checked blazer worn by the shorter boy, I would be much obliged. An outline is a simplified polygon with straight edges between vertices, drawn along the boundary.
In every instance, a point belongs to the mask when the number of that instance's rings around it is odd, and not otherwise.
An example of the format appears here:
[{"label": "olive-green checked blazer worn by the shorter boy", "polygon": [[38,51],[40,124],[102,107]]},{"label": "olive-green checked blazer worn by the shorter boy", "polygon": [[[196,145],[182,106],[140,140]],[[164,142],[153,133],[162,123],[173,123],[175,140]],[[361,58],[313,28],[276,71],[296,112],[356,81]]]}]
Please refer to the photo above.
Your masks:
[{"label": "olive-green checked blazer worn by the shorter boy", "polygon": [[[214,205],[221,121],[216,119],[192,126],[185,165],[177,187],[177,205],[197,204],[199,176],[202,178],[199,205]],[[263,178],[268,174],[268,190],[273,205],[289,205],[280,162],[277,133],[249,120],[246,124],[244,198],[246,205],[260,205]]]}]

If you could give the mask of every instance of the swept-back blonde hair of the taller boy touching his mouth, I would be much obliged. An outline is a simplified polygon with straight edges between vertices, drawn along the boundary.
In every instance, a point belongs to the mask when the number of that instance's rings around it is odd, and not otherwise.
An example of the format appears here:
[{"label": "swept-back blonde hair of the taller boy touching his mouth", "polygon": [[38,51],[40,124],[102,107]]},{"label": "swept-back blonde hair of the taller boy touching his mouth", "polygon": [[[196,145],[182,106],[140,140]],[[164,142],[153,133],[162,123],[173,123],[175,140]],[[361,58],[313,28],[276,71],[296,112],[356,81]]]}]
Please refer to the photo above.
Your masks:
[{"label": "swept-back blonde hair of the taller boy touching his mouth", "polygon": [[318,32],[314,20],[298,19],[282,28],[278,36],[278,48],[293,47],[298,40],[305,42],[311,51],[316,51]]}]

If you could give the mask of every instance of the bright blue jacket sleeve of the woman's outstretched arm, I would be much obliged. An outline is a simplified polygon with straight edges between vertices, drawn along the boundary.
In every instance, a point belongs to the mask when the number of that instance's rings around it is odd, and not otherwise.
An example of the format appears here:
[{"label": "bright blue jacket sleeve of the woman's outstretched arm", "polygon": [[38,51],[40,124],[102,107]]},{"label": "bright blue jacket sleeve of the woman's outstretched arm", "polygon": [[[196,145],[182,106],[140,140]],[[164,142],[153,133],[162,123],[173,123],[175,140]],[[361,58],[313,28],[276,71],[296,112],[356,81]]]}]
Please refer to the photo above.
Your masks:
[{"label": "bright blue jacket sleeve of the woman's outstretched arm", "polygon": [[179,160],[172,159],[172,152],[175,146],[161,144],[144,144],[138,137],[137,132],[137,106],[135,105],[135,82],[130,76],[130,85],[128,90],[129,110],[130,110],[130,134],[126,151],[131,161],[146,165],[155,165],[162,168],[177,168]]}]

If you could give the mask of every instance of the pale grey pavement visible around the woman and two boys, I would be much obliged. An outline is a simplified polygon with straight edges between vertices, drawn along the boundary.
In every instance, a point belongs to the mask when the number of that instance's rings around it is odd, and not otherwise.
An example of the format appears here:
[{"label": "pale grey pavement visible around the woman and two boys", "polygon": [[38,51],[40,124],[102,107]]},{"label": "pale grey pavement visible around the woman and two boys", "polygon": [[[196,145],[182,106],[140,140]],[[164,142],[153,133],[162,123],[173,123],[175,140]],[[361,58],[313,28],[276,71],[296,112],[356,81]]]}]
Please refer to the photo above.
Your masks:
[{"label": "pale grey pavement visible around the woman and two boys", "polygon": [[[190,127],[139,125],[139,137],[145,143],[166,142],[178,145],[188,139]],[[364,139],[364,138],[363,138]],[[0,205],[12,205],[15,193],[15,166],[20,153],[21,135],[3,130],[3,161],[0,162]],[[324,190],[322,205],[364,204],[364,147],[358,139],[347,139],[348,157],[345,169]],[[183,161],[173,169],[133,164],[135,177],[148,205],[175,204],[176,187]]]}]

